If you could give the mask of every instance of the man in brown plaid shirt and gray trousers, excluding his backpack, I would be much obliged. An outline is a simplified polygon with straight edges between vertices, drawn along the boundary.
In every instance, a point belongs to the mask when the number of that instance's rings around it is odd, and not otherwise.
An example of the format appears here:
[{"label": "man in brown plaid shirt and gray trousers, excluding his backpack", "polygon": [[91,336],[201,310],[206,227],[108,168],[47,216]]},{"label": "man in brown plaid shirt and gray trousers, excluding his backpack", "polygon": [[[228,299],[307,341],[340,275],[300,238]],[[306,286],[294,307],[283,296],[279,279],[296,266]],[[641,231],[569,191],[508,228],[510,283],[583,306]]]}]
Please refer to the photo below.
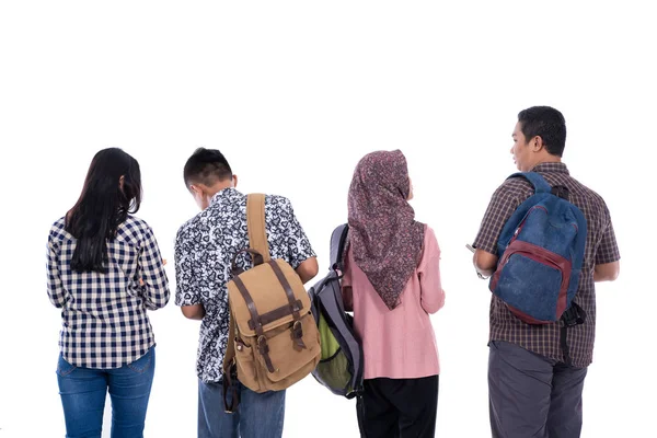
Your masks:
[{"label": "man in brown plaid shirt and gray trousers, excluding his backpack", "polygon": [[[584,265],[575,302],[584,324],[569,327],[564,356],[562,322],[530,325],[496,296],[491,302],[488,394],[494,437],[579,437],[581,390],[591,364],[596,328],[596,281],[619,275],[619,249],[604,200],[568,173],[561,158],[566,140],[563,115],[549,106],[518,114],[511,153],[518,170],[538,172],[550,185],[565,186],[587,220]],[[497,266],[497,240],[516,208],[533,194],[525,178],[506,180],[493,194],[473,243],[474,266],[491,276]],[[568,360],[569,359],[569,360]]]}]

